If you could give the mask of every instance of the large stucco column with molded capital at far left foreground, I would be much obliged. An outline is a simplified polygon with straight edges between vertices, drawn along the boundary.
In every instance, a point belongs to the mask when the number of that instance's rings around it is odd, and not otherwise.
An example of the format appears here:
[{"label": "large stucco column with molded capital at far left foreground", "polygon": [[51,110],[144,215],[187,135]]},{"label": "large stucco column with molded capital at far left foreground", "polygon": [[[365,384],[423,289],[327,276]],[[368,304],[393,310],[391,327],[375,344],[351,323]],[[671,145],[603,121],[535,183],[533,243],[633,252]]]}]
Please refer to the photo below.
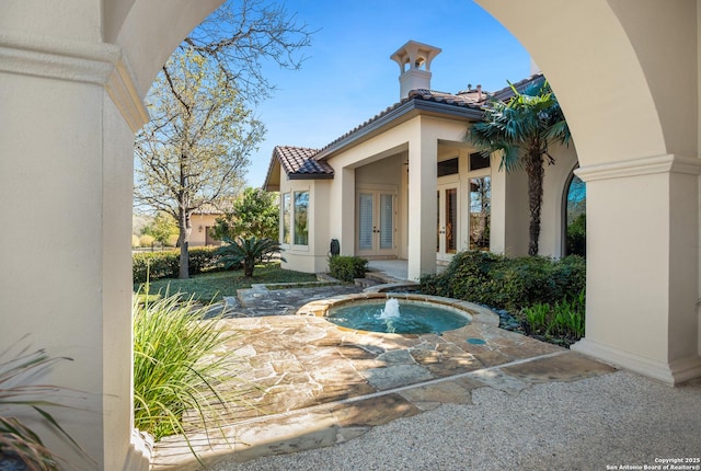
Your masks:
[{"label": "large stucco column with molded capital at far left foreground", "polygon": [[148,469],[130,447],[133,139],[147,115],[128,64],[114,45],[0,28],[0,345],[28,334],[72,358],[37,380],[78,391],[51,413],[95,462],[39,426],[51,450],[78,469]]}]

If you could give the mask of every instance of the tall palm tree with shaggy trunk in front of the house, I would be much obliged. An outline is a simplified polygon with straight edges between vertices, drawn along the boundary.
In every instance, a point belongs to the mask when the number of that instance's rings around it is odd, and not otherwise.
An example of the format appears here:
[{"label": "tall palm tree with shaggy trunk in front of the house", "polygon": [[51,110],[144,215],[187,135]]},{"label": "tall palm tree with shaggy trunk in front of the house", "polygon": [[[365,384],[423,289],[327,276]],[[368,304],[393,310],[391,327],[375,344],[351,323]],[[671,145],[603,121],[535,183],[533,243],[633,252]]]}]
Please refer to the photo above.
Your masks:
[{"label": "tall palm tree with shaggy trunk in front of the house", "polygon": [[492,99],[482,120],[472,125],[466,139],[484,154],[498,154],[499,170],[526,170],[530,210],[528,254],[538,255],[543,163],[555,163],[548,148],[552,143],[568,145],[570,128],[548,81],[535,81],[522,92],[508,84],[514,96],[508,101]]}]

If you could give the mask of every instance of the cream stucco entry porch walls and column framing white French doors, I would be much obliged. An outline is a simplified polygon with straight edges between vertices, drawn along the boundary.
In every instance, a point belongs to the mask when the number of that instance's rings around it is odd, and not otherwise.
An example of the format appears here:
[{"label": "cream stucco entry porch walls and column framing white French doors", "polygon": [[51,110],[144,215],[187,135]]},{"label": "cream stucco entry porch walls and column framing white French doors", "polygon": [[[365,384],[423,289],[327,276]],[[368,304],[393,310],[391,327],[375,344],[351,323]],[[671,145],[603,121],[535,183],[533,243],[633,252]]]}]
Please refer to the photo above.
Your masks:
[{"label": "cream stucco entry porch walls and column framing white French doors", "polygon": [[[398,200],[397,227],[401,230],[397,239],[398,256],[405,255],[410,261],[410,277],[418,278],[435,269],[438,152],[441,142],[464,147],[467,126],[468,123],[460,119],[416,116],[329,159],[335,171],[329,199],[330,237],[340,240],[343,254],[356,254],[356,188],[366,182],[389,179],[391,184],[399,185],[402,195]],[[401,165],[407,161],[407,176],[402,176],[406,169]],[[374,169],[388,173],[380,175]],[[416,169],[414,175],[413,169]],[[337,204],[341,206],[335,206]],[[412,249],[412,244],[416,246]]]}]

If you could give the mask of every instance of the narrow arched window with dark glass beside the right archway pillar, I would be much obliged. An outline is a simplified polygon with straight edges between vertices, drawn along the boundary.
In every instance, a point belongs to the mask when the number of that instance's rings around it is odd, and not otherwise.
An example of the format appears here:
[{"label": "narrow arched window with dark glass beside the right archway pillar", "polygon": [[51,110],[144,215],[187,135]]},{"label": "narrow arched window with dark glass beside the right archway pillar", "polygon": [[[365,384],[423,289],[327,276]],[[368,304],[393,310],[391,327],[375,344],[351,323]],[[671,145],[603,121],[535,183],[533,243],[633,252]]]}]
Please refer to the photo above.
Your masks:
[{"label": "narrow arched window with dark glass beside the right archway pillar", "polygon": [[572,173],[565,193],[565,255],[586,256],[587,251],[587,187]]}]

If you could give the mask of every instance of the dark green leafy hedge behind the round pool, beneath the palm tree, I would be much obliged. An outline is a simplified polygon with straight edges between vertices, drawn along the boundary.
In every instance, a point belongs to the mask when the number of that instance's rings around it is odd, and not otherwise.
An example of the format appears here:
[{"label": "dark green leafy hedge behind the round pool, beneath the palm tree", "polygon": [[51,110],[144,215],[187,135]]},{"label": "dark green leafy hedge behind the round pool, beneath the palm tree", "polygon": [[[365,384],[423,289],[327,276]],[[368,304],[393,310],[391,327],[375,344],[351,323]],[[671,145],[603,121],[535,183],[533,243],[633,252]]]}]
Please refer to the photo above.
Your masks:
[{"label": "dark green leafy hedge behind the round pool, beneath the palm tree", "polygon": [[460,252],[441,274],[421,279],[424,294],[464,299],[509,311],[573,299],[585,287],[586,263],[576,255],[562,260],[540,256],[508,259],[490,252]]}]

